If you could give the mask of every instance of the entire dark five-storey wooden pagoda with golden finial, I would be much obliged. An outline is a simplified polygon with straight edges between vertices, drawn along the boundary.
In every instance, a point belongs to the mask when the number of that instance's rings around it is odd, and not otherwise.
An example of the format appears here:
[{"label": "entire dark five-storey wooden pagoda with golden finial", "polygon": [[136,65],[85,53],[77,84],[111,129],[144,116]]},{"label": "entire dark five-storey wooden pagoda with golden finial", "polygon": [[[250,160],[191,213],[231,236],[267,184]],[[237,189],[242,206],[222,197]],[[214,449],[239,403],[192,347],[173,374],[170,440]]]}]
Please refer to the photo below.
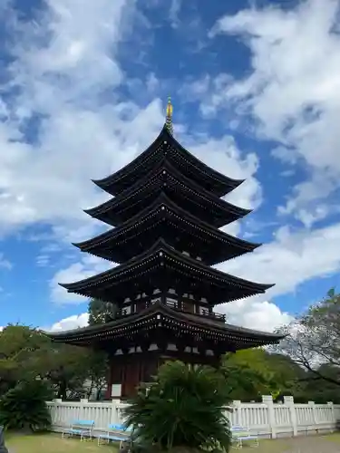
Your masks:
[{"label": "entire dark five-storey wooden pagoda with golden finial", "polygon": [[260,245],[219,229],[250,212],[222,198],[243,181],[210,169],[180,145],[170,100],[149,148],[93,182],[113,198],[85,212],[113,227],[74,246],[118,265],[61,285],[117,311],[108,323],[50,336],[108,352],[107,398],[131,397],[164,361],[219,366],[225,352],[279,342],[280,335],[230,325],[215,312],[216,305],[263,294],[272,284],[212,267]]}]

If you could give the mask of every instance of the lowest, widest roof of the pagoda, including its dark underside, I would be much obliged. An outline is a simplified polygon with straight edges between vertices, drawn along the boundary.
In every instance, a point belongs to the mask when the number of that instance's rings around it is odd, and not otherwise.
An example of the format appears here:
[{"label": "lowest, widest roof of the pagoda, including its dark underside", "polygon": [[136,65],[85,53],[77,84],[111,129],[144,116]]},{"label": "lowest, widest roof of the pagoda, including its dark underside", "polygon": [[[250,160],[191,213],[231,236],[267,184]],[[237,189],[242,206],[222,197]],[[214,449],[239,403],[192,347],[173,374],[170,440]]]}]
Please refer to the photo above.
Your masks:
[{"label": "lowest, widest roof of the pagoda, including its dark underside", "polygon": [[110,344],[122,340],[132,340],[133,335],[138,335],[147,329],[151,332],[152,326],[157,326],[158,333],[163,327],[169,332],[170,329],[190,335],[199,335],[209,338],[215,343],[224,342],[227,352],[230,345],[232,349],[246,349],[256,346],[264,346],[279,342],[285,335],[277,333],[264,333],[256,330],[238,327],[228,323],[220,323],[211,318],[175,311],[160,301],[151,304],[140,313],[131,314],[110,323],[97,324],[61,333],[46,333],[54,342],[68,342],[81,346],[89,344]]}]

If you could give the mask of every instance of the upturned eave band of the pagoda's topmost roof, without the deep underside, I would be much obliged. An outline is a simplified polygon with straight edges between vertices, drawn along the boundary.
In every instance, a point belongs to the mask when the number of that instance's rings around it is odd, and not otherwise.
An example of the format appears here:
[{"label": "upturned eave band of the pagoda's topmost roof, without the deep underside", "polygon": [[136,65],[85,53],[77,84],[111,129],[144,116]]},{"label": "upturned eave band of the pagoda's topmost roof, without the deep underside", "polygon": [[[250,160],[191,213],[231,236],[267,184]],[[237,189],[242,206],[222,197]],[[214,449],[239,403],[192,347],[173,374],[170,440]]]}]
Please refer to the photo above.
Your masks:
[{"label": "upturned eave band of the pagoda's topmost roof, without the deep underside", "polygon": [[115,189],[114,185],[117,184],[122,178],[128,178],[129,175],[131,176],[136,171],[136,167],[141,166],[143,160],[146,159],[148,155],[151,152],[153,152],[157,147],[159,147],[161,141],[163,140],[167,141],[169,140],[169,143],[171,143],[175,149],[178,149],[180,153],[184,155],[184,157],[189,159],[189,163],[193,167],[196,167],[201,172],[208,174],[209,178],[215,179],[221,186],[224,187],[223,189],[219,190],[219,194],[217,194],[219,197],[223,197],[234,188],[238,188],[238,186],[245,181],[245,179],[228,178],[227,176],[220,173],[218,170],[211,169],[207,164],[202,162],[200,159],[196,158],[187,149],[183,148],[180,145],[179,141],[177,141],[169,133],[166,125],[164,124],[163,129],[160,130],[160,134],[158,135],[158,137],[155,140],[153,140],[151,145],[143,152],[141,152],[141,154],[136,159],[133,159],[128,165],[122,167],[112,175],[109,175],[101,179],[92,179],[92,182],[99,188],[102,188],[102,190],[109,191],[109,193],[111,193],[112,195],[119,194],[121,190]]}]

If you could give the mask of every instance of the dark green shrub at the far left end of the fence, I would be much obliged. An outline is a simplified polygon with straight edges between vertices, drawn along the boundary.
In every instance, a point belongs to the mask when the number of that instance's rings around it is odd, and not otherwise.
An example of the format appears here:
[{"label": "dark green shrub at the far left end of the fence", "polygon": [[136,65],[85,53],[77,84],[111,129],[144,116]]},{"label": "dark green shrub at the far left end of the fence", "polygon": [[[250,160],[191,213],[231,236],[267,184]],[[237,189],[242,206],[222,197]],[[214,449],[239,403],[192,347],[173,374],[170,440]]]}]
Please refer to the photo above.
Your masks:
[{"label": "dark green shrub at the far left end of the fence", "polygon": [[46,400],[51,391],[44,381],[20,382],[0,400],[0,425],[6,429],[47,430],[51,415]]}]

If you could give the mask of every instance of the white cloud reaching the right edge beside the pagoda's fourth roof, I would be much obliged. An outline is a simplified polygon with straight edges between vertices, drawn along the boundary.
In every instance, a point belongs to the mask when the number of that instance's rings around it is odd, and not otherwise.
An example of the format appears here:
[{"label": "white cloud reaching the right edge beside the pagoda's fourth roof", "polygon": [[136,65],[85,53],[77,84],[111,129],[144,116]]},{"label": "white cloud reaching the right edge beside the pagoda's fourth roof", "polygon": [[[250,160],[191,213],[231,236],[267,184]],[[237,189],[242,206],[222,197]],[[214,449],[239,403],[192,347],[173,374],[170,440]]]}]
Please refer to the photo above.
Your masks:
[{"label": "white cloud reaching the right edge beside the pagoda's fourth roof", "polygon": [[340,224],[292,232],[282,226],[273,242],[219,268],[259,283],[276,284],[263,299],[292,293],[299,284],[340,269]]}]

